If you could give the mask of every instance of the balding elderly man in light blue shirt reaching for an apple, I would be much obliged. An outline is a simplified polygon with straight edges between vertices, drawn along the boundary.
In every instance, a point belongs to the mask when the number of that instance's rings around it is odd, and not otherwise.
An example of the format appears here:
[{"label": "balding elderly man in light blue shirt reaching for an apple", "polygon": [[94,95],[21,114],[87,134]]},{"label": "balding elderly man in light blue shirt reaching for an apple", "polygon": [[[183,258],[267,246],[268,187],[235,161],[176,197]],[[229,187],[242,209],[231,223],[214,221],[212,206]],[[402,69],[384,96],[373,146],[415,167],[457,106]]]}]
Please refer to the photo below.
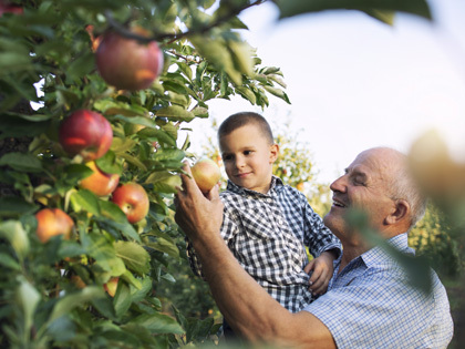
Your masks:
[{"label": "balding elderly man in light blue shirt reaching for an apple", "polygon": [[[186,166],[189,173],[189,167]],[[291,314],[273,300],[236,261],[219,235],[223,204],[218,188],[205,197],[188,176],[177,194],[176,220],[190,238],[223,315],[251,342],[304,348],[446,348],[453,324],[446,291],[433,273],[433,290],[409,284],[402,267],[379,246],[370,246],[345,214],[363,209],[370,225],[396,249],[423,216],[425,201],[397,151],[362,152],[331,184],[333,205],[326,225],[340,238],[328,292]]]}]

